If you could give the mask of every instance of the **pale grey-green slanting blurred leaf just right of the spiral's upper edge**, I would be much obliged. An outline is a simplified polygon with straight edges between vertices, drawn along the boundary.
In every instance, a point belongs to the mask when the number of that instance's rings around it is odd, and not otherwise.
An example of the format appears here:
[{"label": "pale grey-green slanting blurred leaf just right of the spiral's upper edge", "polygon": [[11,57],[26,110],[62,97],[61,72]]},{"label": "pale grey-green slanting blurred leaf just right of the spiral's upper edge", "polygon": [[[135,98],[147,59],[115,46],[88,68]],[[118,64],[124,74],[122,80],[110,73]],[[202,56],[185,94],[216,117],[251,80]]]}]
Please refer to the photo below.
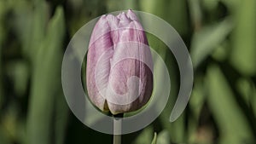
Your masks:
[{"label": "pale grey-green slanting blurred leaf just right of the spiral's upper edge", "polygon": [[218,48],[218,45],[230,34],[233,24],[230,19],[225,19],[218,24],[206,26],[200,31],[195,32],[191,42],[191,59],[196,68],[201,64],[212,50]]}]

